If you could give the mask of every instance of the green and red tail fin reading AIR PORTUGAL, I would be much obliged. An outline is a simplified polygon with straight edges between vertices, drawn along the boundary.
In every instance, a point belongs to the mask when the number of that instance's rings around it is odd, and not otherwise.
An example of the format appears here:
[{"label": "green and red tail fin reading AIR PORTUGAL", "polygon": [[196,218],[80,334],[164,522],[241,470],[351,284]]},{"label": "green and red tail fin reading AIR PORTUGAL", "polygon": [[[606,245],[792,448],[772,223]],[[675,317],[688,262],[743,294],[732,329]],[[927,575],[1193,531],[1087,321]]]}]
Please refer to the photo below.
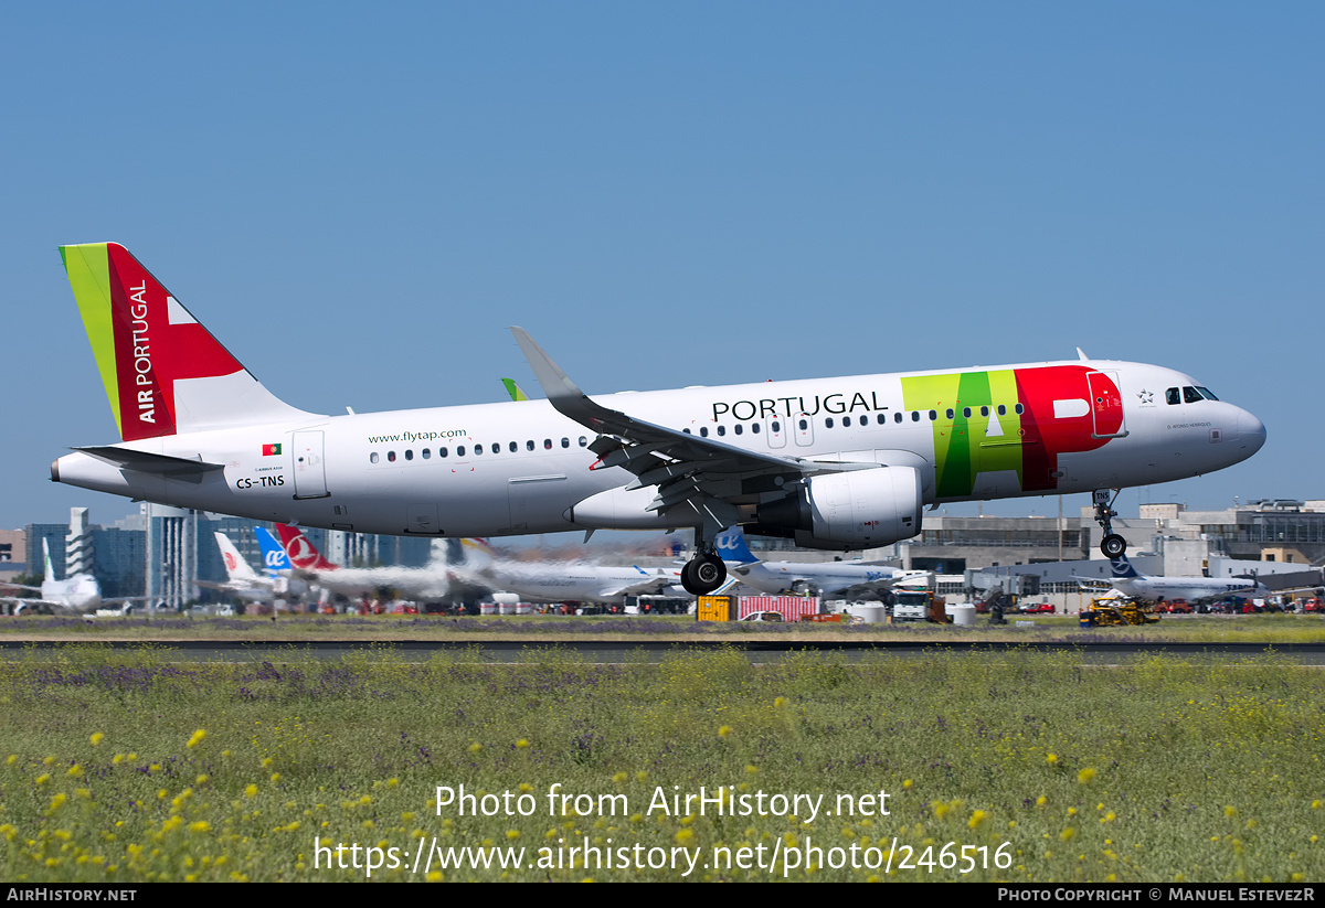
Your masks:
[{"label": "green and red tail fin reading AIR PORTUGAL", "polygon": [[127,249],[60,257],[125,441],[307,416],[278,400]]}]

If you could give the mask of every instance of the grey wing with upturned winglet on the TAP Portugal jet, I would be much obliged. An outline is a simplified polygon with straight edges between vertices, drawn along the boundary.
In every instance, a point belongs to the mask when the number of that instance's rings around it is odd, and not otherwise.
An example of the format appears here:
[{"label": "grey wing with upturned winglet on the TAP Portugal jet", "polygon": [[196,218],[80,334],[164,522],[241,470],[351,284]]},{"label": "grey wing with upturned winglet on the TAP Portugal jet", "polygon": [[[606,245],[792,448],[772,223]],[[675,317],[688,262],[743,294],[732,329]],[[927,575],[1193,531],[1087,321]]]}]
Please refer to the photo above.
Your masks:
[{"label": "grey wing with upturned winglet on the TAP Portugal jet", "polygon": [[788,488],[819,473],[877,466],[762,454],[636,420],[595,404],[523,328],[513,327],[511,332],[547,401],[562,416],[598,433],[590,445],[599,455],[594,469],[624,467],[635,474],[627,490],[657,486],[648,510],[674,514],[684,525],[702,523],[706,536],[738,523],[735,504],[755,502],[761,492]]}]

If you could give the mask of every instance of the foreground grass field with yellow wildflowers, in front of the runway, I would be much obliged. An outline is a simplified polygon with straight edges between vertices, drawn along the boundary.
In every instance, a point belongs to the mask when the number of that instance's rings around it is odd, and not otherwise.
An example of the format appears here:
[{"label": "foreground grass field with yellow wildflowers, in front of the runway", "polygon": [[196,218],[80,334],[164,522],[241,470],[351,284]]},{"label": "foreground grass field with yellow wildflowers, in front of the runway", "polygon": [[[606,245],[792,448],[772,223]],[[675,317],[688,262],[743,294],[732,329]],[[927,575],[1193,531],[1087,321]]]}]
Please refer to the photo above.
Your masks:
[{"label": "foreground grass field with yellow wildflowers, in front of the runway", "polygon": [[1275,657],[182,658],[4,663],[0,878],[1325,879]]}]

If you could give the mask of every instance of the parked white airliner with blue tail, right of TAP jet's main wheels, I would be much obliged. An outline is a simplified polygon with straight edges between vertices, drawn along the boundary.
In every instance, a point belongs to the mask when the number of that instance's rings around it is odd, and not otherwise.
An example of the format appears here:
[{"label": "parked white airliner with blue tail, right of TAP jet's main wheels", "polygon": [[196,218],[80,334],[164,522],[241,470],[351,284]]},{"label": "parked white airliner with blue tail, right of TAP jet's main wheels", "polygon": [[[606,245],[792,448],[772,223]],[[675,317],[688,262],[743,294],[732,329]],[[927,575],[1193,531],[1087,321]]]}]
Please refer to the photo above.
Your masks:
[{"label": "parked white airliner with blue tail, right of TAP jet's main wheels", "polygon": [[882,600],[897,584],[933,576],[928,570],[859,561],[761,561],[739,528],[718,533],[717,544],[737,580],[770,596],[814,593],[831,600]]}]

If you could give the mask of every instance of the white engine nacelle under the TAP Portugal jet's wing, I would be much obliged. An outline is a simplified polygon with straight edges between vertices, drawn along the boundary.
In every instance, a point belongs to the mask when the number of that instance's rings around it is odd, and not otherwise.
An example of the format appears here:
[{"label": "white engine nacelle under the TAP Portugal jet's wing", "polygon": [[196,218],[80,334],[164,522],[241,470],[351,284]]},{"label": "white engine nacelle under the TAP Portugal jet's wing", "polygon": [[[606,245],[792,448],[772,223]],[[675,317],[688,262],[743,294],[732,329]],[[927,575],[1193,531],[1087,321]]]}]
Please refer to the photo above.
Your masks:
[{"label": "white engine nacelle under the TAP Portugal jet's wing", "polygon": [[806,548],[876,548],[918,533],[924,507],[914,467],[848,470],[812,477],[799,494],[761,504],[757,529],[782,531]]}]

